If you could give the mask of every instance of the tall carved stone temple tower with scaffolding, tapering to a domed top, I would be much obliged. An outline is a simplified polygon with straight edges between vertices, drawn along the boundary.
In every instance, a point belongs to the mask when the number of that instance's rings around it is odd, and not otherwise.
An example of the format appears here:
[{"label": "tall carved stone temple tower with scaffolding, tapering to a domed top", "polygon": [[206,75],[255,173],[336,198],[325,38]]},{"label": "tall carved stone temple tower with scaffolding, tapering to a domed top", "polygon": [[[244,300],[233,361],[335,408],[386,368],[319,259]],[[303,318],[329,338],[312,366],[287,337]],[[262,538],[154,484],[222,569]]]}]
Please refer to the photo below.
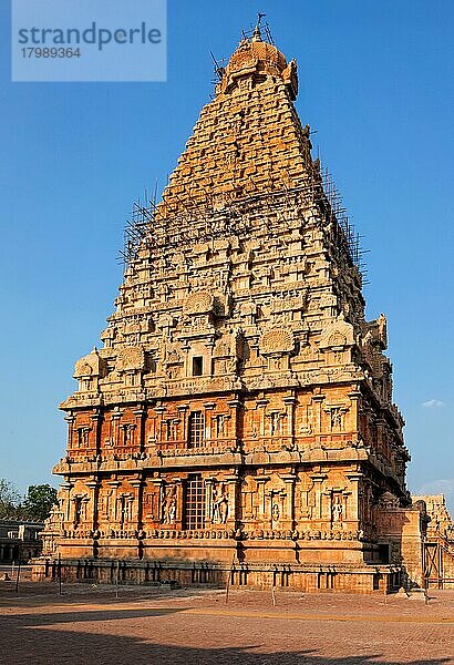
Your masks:
[{"label": "tall carved stone temple tower with scaffolding, tapering to a domed top", "polygon": [[386,319],[365,319],[297,64],[257,27],[217,74],[162,200],[134,208],[102,347],[75,364],[34,576],[421,584]]}]

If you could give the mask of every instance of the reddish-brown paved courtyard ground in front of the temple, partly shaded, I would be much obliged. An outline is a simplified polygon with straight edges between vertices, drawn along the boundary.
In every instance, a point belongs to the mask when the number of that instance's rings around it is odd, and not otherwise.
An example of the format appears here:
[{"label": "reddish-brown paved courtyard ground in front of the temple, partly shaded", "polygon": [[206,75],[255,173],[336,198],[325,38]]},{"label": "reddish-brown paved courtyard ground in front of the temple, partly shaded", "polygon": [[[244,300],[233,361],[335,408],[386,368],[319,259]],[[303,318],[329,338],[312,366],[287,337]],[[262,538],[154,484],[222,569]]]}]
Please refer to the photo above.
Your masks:
[{"label": "reddish-brown paved courtyard ground in front of the temple, partly shaded", "polygon": [[429,596],[0,582],[0,663],[454,663],[454,590]]}]

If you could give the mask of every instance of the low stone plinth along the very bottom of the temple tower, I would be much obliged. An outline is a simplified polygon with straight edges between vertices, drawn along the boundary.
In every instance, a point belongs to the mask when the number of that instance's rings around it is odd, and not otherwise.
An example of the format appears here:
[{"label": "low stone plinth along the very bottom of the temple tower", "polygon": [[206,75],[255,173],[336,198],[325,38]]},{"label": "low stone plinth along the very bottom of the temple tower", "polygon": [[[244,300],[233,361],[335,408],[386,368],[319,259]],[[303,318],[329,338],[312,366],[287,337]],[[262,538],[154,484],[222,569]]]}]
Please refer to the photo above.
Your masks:
[{"label": "low stone plinth along the very bottom of the temple tower", "polygon": [[182,560],[114,560],[40,557],[32,561],[34,581],[96,584],[177,583],[182,586],[227,586],[300,592],[390,593],[402,585],[403,569],[392,565],[260,564]]}]

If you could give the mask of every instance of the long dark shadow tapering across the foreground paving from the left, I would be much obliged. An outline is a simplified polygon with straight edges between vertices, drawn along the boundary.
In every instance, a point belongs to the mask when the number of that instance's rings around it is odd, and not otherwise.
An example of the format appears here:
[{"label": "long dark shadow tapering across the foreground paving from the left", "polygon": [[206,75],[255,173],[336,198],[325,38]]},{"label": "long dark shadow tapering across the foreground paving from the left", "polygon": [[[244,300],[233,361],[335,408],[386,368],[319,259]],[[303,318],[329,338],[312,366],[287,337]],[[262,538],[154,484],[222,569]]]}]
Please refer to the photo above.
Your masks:
[{"label": "long dark shadow tapering across the foreground paving from the left", "polygon": [[[79,628],[58,630],[55,624],[109,622],[112,620],[146,618],[176,614],[173,608],[106,610],[93,612],[55,612],[2,616],[0,627],[0,663],[2,665],[393,665],[402,661],[384,659],[382,654],[326,657],[317,651],[266,649],[260,644],[241,647],[189,647],[157,644],[153,622],[146,637],[82,632]],[[99,623],[95,630],[102,631]],[[48,627],[49,626],[49,627]],[[126,626],[122,626],[127,632]],[[210,635],[205,637],[209,644]],[[173,641],[169,632],[168,641]],[[450,658],[406,661],[406,665],[441,665]]]}]

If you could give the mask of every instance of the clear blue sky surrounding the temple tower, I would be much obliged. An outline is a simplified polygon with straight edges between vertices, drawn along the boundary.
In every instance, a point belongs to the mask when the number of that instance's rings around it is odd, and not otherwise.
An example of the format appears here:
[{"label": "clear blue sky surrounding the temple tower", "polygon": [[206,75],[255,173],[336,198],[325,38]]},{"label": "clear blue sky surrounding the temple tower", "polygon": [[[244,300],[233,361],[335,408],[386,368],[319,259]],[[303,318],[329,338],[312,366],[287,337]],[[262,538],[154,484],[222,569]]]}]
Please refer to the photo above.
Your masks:
[{"label": "clear blue sky surrounding the temple tower", "polygon": [[371,249],[410,489],[453,505],[452,0],[171,0],[168,81],[126,84],[11,83],[1,2],[0,478],[21,490],[63,454],[58,403],[112,313],[131,204],[164,183],[208,101],[209,50],[228,57],[258,10],[298,60],[301,121]]}]

